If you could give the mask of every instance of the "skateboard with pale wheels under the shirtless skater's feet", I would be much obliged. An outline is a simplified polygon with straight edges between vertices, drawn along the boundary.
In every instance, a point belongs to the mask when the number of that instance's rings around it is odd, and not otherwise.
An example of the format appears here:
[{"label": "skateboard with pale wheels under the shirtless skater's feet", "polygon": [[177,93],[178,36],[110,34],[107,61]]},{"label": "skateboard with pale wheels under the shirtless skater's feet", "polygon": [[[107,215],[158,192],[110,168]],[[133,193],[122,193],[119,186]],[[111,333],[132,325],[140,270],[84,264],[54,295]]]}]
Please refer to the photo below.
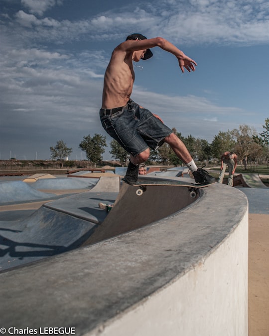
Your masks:
[{"label": "skateboard with pale wheels under the shirtless skater's feet", "polygon": [[[125,183],[126,180],[123,178],[122,179]],[[215,183],[215,182],[214,182]],[[214,184],[211,183],[211,184]],[[128,184],[128,183],[127,183]],[[141,196],[143,192],[146,191],[147,186],[175,186],[175,187],[188,187],[188,190],[190,192],[190,197],[195,198],[198,194],[197,189],[200,188],[205,188],[210,186],[211,184],[198,184],[198,183],[191,183],[191,182],[186,182],[186,181],[180,181],[180,180],[169,180],[169,179],[156,179],[154,177],[139,177],[137,179],[137,182],[132,185],[133,187],[138,187],[136,190],[136,195]]]}]

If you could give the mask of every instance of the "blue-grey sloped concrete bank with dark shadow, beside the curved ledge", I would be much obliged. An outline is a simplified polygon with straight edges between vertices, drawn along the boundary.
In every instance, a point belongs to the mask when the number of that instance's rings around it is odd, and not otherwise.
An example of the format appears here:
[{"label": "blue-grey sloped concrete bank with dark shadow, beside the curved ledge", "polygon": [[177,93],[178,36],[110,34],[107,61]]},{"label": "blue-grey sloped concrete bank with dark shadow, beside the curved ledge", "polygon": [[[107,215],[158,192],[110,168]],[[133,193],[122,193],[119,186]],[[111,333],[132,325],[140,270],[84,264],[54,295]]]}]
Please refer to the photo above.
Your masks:
[{"label": "blue-grey sloped concrete bank with dark shadow, beside the curved ledge", "polygon": [[94,226],[43,206],[19,222],[0,222],[0,270],[74,249]]}]

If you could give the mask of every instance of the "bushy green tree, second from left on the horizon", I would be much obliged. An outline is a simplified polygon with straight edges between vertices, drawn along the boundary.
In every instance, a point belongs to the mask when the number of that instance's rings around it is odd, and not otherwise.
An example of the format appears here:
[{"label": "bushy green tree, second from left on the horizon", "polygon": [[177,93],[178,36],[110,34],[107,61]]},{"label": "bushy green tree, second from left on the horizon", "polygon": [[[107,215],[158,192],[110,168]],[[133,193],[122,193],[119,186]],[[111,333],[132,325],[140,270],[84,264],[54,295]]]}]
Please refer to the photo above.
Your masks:
[{"label": "bushy green tree, second from left on the horizon", "polygon": [[105,153],[104,147],[106,146],[106,137],[96,133],[93,137],[90,134],[84,136],[83,141],[79,144],[79,147],[86,152],[86,157],[92,162],[93,167],[102,161],[102,154]]}]

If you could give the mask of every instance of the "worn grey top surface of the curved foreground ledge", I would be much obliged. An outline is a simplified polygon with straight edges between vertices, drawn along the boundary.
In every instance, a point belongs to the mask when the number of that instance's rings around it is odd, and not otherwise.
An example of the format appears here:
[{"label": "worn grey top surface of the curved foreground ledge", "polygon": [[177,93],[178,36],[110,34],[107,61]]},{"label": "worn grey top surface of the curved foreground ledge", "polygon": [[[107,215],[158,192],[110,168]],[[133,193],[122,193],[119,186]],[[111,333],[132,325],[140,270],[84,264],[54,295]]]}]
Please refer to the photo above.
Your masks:
[{"label": "worn grey top surface of the curved foreground ledge", "polygon": [[247,212],[241,191],[216,183],[163,220],[2,272],[1,327],[75,327],[76,335],[99,335],[203,263]]}]

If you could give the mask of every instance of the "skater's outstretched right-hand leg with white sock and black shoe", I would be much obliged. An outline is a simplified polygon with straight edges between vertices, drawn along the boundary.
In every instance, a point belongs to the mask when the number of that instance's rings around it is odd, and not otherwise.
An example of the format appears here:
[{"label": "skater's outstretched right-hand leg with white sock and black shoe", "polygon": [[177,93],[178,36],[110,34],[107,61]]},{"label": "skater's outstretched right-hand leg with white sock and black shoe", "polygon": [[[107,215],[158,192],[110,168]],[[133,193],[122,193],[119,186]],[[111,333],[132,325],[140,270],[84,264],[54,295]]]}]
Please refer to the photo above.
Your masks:
[{"label": "skater's outstretched right-hand leg with white sock and black shoe", "polygon": [[168,135],[164,139],[164,141],[168,143],[168,145],[172,148],[176,156],[180,158],[190,169],[196,183],[211,184],[216,182],[215,178],[209,175],[207,171],[201,168],[197,168],[187,147],[185,146],[183,141],[181,141],[179,137],[175,135],[175,133],[171,133],[170,135]]}]

